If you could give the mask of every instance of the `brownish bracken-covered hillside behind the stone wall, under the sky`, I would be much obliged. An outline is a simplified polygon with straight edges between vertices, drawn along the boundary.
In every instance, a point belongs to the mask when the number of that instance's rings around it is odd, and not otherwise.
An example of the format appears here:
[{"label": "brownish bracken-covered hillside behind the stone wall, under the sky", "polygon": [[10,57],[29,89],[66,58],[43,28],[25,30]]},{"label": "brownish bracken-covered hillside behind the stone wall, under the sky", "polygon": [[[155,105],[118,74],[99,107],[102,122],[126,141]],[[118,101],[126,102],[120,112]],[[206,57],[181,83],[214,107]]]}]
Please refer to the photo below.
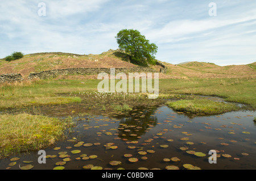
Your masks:
[{"label": "brownish bracken-covered hillside behind the stone wall, under the sky", "polygon": [[[159,61],[160,62],[160,61]],[[207,62],[184,62],[178,65],[162,62],[167,66],[167,74],[160,73],[159,78],[255,78],[256,62],[248,65],[218,66]],[[72,53],[34,53],[11,62],[0,60],[0,74],[20,73],[26,78],[32,72],[68,68],[132,68],[127,56],[117,50],[108,50],[101,54],[79,55]],[[159,65],[151,68],[160,70]],[[97,78],[92,75],[59,78]]]}]

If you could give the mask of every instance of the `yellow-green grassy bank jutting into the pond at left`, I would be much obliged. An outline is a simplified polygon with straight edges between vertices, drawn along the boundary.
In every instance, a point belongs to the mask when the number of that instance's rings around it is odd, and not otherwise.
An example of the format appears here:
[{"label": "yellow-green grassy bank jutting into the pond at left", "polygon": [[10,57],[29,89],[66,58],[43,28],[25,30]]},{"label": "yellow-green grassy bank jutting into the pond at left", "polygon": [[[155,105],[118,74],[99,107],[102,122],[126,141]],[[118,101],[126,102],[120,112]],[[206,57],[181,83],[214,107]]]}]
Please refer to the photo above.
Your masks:
[{"label": "yellow-green grassy bank jutting into the pond at left", "polygon": [[70,119],[27,113],[0,115],[0,158],[53,145],[65,137],[64,131],[71,125]]}]

